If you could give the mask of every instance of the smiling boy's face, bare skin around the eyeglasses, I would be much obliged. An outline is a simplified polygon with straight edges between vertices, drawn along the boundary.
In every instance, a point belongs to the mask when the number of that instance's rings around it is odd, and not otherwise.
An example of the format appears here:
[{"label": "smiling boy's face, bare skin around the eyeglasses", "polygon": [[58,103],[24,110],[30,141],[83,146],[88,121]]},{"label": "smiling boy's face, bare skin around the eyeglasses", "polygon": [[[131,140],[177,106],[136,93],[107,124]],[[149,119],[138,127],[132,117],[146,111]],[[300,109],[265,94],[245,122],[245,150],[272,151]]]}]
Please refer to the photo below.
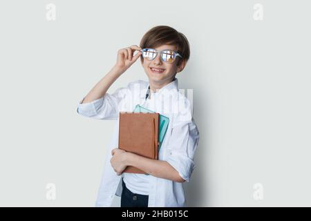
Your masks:
[{"label": "smiling boy's face, bare skin around the eyeglasses", "polygon": [[[154,49],[159,51],[177,50],[176,46],[171,45],[162,45]],[[164,86],[165,84],[169,84],[175,77],[176,73],[179,73],[180,71],[182,71],[183,68],[185,68],[185,61],[182,61],[181,64],[177,66],[178,59],[180,59],[180,57],[176,57],[176,59],[172,63],[166,63],[161,60],[160,53],[158,53],[157,57],[152,61],[144,58],[144,61],[142,61],[142,66],[144,68],[144,72],[149,78],[149,82],[151,84],[158,84],[162,86]],[[163,69],[163,71],[161,73],[158,73],[156,71],[153,71],[152,68]]]}]

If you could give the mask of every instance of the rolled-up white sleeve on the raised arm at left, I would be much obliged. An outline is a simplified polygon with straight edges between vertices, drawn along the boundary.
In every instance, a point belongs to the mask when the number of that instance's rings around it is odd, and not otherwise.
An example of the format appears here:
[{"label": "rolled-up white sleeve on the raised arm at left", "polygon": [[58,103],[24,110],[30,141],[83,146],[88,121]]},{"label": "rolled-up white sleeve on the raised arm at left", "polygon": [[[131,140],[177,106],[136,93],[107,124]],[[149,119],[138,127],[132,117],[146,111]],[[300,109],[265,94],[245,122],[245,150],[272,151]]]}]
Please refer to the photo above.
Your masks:
[{"label": "rolled-up white sleeve on the raised arm at left", "polygon": [[103,97],[92,102],[82,104],[82,99],[77,106],[77,113],[94,119],[117,119],[119,104],[129,94],[129,88],[119,88],[113,94],[106,93]]}]

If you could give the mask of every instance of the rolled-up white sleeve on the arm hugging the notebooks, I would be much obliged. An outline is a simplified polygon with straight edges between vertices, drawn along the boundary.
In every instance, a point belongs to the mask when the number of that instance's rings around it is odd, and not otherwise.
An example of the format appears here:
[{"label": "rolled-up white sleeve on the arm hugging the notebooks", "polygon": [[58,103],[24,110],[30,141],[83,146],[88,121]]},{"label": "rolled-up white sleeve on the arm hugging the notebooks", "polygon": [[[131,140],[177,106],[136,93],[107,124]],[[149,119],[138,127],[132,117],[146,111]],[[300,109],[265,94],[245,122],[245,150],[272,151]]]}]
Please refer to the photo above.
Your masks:
[{"label": "rolled-up white sleeve on the arm hugging the notebooks", "polygon": [[182,179],[189,182],[194,171],[194,153],[198,146],[199,132],[194,121],[174,126],[167,151],[167,162],[173,166]]}]

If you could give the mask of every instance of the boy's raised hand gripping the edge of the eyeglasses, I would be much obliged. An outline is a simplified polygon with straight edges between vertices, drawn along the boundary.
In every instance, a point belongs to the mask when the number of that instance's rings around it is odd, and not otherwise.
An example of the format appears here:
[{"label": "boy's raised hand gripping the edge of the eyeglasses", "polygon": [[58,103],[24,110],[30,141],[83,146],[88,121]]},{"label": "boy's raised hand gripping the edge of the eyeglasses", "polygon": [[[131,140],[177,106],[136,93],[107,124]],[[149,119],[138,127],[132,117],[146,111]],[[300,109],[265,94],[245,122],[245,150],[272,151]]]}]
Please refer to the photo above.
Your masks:
[{"label": "boy's raised hand gripping the edge of the eyeglasses", "polygon": [[[138,53],[134,56],[135,50],[138,50]],[[142,55],[140,52],[142,48],[139,46],[129,46],[128,48],[122,48],[117,51],[117,63],[115,67],[121,72],[124,73],[132,64],[137,61],[138,57]]]}]

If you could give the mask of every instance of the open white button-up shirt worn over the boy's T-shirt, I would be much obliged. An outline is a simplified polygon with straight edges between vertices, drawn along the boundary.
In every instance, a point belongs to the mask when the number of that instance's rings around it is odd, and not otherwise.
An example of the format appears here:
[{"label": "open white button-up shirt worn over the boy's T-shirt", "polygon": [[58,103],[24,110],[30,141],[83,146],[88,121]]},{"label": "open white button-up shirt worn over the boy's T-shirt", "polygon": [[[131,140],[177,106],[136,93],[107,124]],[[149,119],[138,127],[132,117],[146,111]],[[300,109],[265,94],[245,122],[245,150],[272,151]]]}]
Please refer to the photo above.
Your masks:
[{"label": "open white button-up shirt worn over the boy's T-shirt", "polygon": [[[77,106],[77,113],[93,119],[116,119],[113,137],[107,149],[106,164],[97,194],[96,206],[111,206],[114,195],[122,193],[122,177],[113,170],[111,150],[118,146],[119,113],[133,112],[135,105],[140,104],[151,111],[169,117],[169,126],[165,134],[158,160],[167,161],[178,171],[180,177],[189,182],[194,165],[194,153],[198,146],[199,132],[192,117],[191,102],[178,90],[178,79],[152,93],[146,99],[148,81],[133,81],[113,94]],[[186,206],[182,183],[149,175],[148,206]]]}]

